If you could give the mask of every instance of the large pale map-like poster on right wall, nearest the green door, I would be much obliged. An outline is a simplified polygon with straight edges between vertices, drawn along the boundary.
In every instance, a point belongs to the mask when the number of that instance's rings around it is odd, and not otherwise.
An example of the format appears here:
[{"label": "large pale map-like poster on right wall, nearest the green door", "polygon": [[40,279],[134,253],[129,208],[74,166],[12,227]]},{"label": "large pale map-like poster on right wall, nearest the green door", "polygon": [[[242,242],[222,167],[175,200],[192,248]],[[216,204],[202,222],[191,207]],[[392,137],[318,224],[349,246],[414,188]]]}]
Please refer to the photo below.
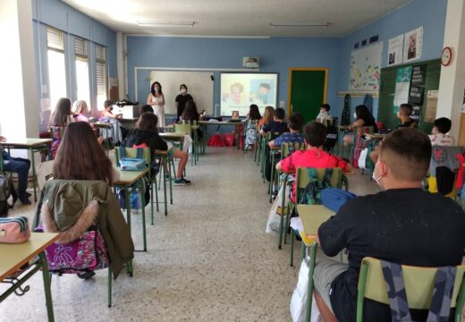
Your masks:
[{"label": "large pale map-like poster on right wall, nearest the green door", "polygon": [[350,89],[379,89],[382,55],[382,42],[352,51]]}]

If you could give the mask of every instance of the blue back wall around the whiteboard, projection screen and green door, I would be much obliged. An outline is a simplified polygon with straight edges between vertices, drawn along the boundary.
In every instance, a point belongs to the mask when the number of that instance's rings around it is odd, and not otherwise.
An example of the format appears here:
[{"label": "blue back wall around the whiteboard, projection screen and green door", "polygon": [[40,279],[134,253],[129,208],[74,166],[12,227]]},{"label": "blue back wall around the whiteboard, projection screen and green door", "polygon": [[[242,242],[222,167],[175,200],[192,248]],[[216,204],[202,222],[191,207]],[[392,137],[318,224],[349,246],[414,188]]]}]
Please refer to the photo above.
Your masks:
[{"label": "blue back wall around the whiteboard, projection screen and green door", "polygon": [[[242,57],[259,56],[260,72],[278,72],[278,102],[287,108],[290,67],[328,67],[328,103],[339,84],[340,38],[179,38],[127,36],[128,89],[131,100],[146,101],[149,70],[135,67],[242,69]],[[163,86],[163,84],[162,84]],[[191,93],[195,97],[195,93]],[[220,72],[215,72],[214,106],[220,104]],[[216,111],[219,114],[219,107]]]}]

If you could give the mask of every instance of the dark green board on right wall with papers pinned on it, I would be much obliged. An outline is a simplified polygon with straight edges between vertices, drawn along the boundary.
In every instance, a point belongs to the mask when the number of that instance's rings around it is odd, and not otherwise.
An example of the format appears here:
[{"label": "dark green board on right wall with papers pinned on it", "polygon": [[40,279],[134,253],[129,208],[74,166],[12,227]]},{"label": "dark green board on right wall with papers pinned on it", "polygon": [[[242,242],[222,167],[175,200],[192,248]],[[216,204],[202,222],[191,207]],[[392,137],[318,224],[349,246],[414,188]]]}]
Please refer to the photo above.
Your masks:
[{"label": "dark green board on right wall with papers pinned on it", "polygon": [[[419,125],[418,129],[429,133],[433,127],[430,118],[425,120],[427,116],[427,93],[439,89],[439,77],[441,74],[441,61],[439,59],[415,62],[412,64],[401,64],[392,67],[381,69],[381,81],[379,91],[379,107],[377,120],[383,122],[385,129],[395,129],[399,124],[399,119],[394,110],[394,97],[396,94],[396,78],[400,69],[414,68],[418,65],[424,65],[425,80],[420,82],[419,85],[411,83],[410,88],[415,86],[417,91],[423,95],[421,103],[418,103],[419,109]],[[415,78],[414,78],[415,79]]]}]

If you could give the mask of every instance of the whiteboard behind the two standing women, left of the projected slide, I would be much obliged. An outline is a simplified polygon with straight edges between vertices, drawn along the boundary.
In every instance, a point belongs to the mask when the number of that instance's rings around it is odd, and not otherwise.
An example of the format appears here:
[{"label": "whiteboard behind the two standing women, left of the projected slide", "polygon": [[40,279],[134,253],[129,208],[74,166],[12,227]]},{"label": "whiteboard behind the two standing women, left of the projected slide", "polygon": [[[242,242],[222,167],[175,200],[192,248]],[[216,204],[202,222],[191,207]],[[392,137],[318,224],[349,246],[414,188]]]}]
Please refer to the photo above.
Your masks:
[{"label": "whiteboard behind the two standing women, left of the projected slide", "polygon": [[[176,114],[175,99],[180,94],[181,84],[186,84],[187,92],[194,98],[199,113],[204,109],[207,114],[213,114],[213,72],[151,71],[148,92],[154,81],[162,85],[165,114]],[[144,99],[147,100],[147,97]]]}]

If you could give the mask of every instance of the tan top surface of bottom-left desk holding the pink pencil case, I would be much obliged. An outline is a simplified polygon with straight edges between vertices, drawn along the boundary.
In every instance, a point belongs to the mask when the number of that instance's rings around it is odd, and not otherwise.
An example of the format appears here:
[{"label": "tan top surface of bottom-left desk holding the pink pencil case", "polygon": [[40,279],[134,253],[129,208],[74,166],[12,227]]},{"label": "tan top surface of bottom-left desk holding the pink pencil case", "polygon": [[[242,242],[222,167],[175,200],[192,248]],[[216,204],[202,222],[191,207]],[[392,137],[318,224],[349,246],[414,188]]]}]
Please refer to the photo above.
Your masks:
[{"label": "tan top surface of bottom-left desk holding the pink pencil case", "polygon": [[30,233],[30,240],[21,244],[0,243],[0,281],[13,275],[20,267],[45,250],[58,238],[58,233]]}]

